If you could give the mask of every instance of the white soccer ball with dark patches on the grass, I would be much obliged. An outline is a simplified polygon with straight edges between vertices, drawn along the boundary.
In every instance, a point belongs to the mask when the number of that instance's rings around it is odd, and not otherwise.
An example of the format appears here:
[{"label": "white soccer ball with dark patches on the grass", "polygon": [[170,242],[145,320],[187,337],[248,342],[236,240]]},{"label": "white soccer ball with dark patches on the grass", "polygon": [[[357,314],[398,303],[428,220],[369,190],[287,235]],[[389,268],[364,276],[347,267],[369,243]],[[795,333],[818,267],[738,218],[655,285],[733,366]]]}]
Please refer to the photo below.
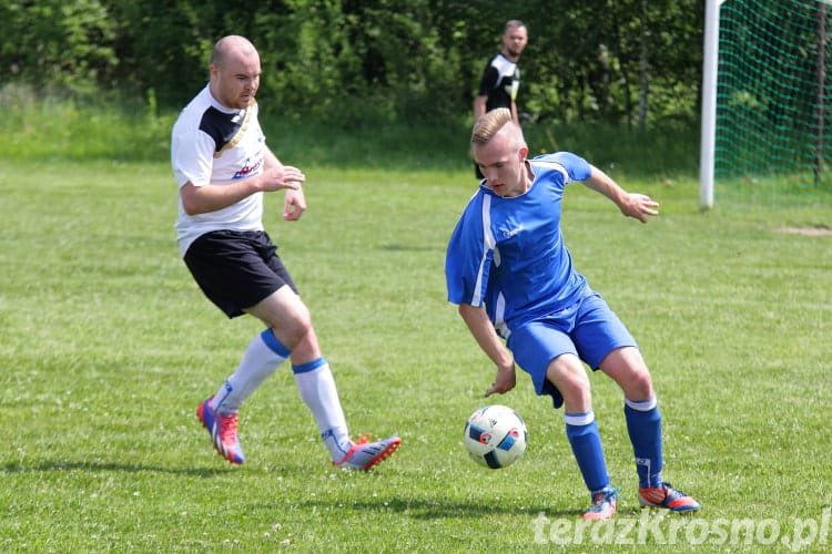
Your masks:
[{"label": "white soccer ball with dark patches on the grass", "polygon": [[485,406],[465,423],[463,443],[471,459],[498,470],[511,465],[526,452],[526,422],[511,408]]}]

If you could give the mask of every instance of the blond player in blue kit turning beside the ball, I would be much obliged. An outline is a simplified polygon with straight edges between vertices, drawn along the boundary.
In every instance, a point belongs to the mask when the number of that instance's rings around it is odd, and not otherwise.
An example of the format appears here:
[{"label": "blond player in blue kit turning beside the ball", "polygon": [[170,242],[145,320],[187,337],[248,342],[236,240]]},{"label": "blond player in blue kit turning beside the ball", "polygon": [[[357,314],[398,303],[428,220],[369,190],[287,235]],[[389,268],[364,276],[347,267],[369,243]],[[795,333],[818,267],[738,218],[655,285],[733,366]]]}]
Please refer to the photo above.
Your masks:
[{"label": "blond player in blue kit turning beside the ball", "polygon": [[[480,117],[471,132],[485,178],[448,244],[448,300],[497,366],[486,397],[515,387],[515,363],[538,394],[564,406],[566,434],[589,489],[586,519],[616,513],[587,371],[600,369],[623,390],[625,418],[643,506],[693,512],[699,503],[662,480],[661,417],[650,372],[627,328],[572,266],[564,244],[564,191],[580,182],[642,223],[658,203],[630,194],[598,167],[567,152],[527,158],[522,131],[506,109]],[[504,342],[505,341],[505,342]]]}]

